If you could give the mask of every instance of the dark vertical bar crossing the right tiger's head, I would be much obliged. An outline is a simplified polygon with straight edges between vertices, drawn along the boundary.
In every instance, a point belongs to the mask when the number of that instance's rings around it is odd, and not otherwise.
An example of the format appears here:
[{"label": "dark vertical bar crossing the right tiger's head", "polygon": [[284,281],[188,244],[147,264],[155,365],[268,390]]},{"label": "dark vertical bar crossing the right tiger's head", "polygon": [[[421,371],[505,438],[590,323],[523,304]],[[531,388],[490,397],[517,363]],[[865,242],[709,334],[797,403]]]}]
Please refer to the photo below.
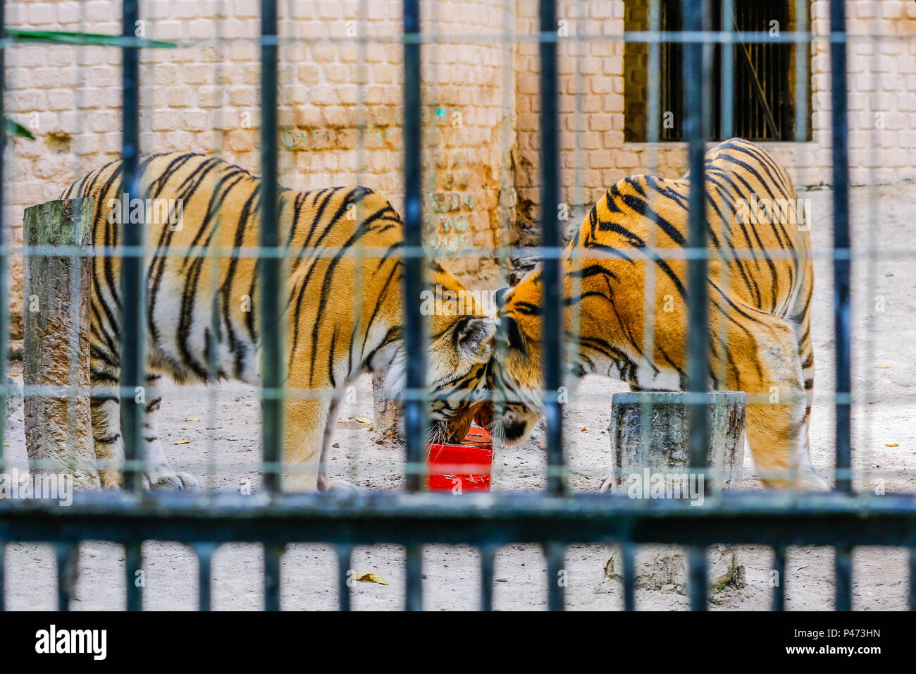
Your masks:
[{"label": "dark vertical bar crossing the right tiger's head", "polygon": [[547,425],[547,491],[566,492],[560,387],[563,384],[562,224],[560,221],[560,115],[557,78],[557,8],[540,0],[540,245],[543,292],[544,421]]}]

